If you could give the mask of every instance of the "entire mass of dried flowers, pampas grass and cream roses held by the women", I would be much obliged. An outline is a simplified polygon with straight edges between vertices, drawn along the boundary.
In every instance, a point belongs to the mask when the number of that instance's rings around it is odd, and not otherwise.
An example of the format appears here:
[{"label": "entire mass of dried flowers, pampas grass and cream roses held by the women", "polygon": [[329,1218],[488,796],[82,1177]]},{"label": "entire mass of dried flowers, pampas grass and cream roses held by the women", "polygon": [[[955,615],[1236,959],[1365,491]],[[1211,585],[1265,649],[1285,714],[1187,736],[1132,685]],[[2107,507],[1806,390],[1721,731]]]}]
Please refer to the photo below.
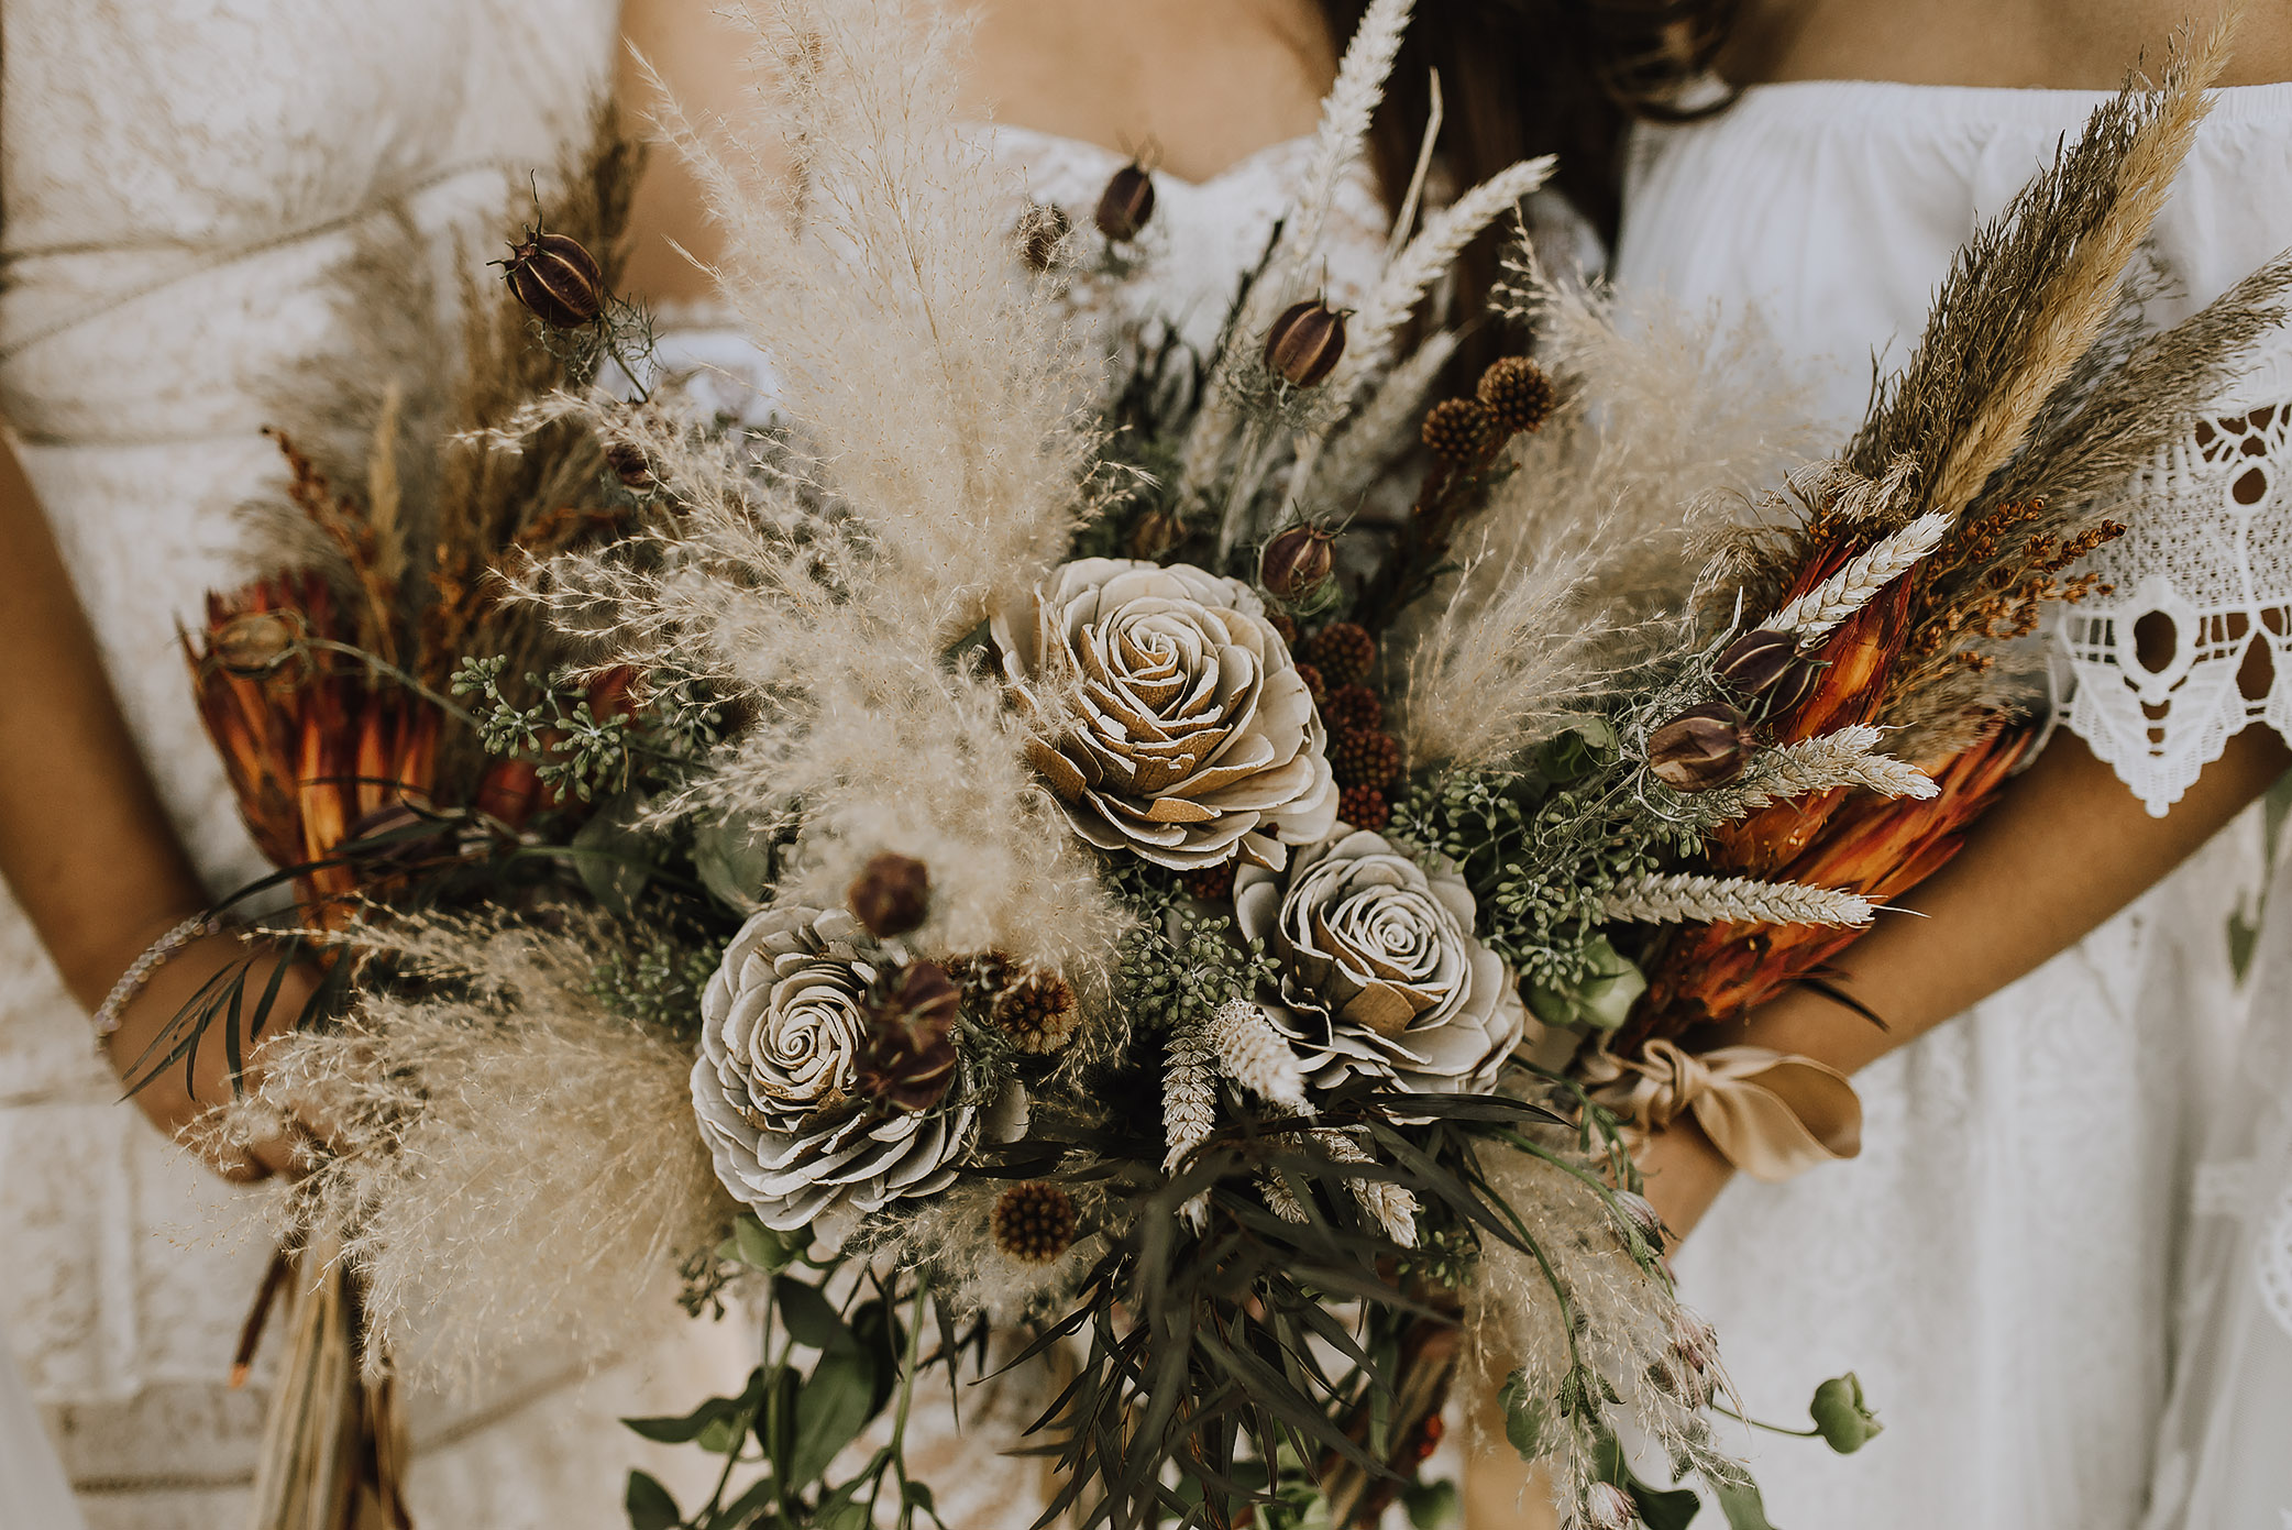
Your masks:
[{"label": "entire mass of dried flowers, pampas grass and cream roses held by the women", "polygon": [[[1006,1443],[1043,1523],[1302,1528],[1437,1516],[1469,1365],[1570,1523],[1694,1514],[1632,1438],[1763,1525],[1630,1149],[1717,1099],[1753,1172],[1854,1152],[1843,1078],[1671,1016],[1946,858],[2022,748],[2015,638],[2276,321],[2283,273],[2166,335],[2120,300],[2207,60],[2102,108],[1806,461],[1749,339],[1526,252],[1492,319],[1536,360],[1439,397],[1412,317],[1545,163],[1412,188],[1375,287],[1318,291],[1405,0],[1215,351],[1125,333],[1112,385],[1077,312],[1157,259],[1151,172],[1027,206],[953,21],[743,16],[759,117],[667,126],[775,422],[644,362],[605,154],[470,294],[429,434],[390,392],[355,491],[298,456],[312,571],[190,645],[351,989],[227,1129],[325,1122],[284,1218],[369,1374],[605,1356],[674,1291],[761,1363],[633,1420],[722,1457],[699,1507],[635,1473],[639,1530],[937,1519],[917,1406],[981,1369],[1052,1376]],[[1813,1424],[1877,1429],[1852,1376]]]}]

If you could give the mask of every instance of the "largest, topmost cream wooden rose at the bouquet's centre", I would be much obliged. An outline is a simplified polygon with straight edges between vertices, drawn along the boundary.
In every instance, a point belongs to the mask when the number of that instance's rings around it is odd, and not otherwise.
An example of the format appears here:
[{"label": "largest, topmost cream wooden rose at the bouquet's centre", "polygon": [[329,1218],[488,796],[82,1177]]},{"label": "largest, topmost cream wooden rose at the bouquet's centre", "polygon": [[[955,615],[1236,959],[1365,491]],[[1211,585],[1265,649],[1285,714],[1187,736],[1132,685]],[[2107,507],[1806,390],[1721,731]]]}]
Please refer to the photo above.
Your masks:
[{"label": "largest, topmost cream wooden rose at the bouquet's centre", "polygon": [[1075,833],[1176,872],[1279,867],[1336,821],[1313,697],[1258,596],[1187,564],[1084,557],[992,617],[1029,759]]}]

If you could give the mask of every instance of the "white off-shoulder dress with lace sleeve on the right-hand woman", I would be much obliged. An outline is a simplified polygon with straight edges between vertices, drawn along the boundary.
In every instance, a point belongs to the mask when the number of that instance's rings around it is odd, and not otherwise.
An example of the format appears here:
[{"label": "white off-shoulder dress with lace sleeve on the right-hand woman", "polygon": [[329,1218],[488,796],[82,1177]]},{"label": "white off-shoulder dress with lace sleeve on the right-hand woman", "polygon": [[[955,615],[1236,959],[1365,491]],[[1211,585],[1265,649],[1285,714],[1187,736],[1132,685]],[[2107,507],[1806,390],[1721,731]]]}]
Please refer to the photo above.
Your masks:
[{"label": "white off-shoulder dress with lace sleeve on the right-hand woman", "polygon": [[[1953,250],[2097,101],[1751,89],[1712,122],[1639,135],[1618,280],[1763,317],[1843,436],[1873,353],[1907,358]],[[2180,319],[2285,245],[2292,85],[2221,92],[2157,225],[2180,291],[2152,317]],[[2235,684],[2246,647],[2287,631],[2287,404],[2278,337],[2141,484],[2132,534],[2106,551],[2116,594],[2063,633],[2063,718],[2152,812],[2232,732],[2283,729],[2292,709],[2283,663],[2264,697]],[[2145,612],[2177,631],[2154,674],[2132,654]],[[1751,1413],[1804,1418],[1813,1385],[1852,1367],[1886,1422],[1843,1459],[1747,1438],[1774,1523],[2292,1523],[2292,1197],[2262,1216],[2292,1193],[2292,979],[2267,975],[2264,950],[2246,1037],[2228,959],[2258,879],[2246,819],[2077,950],[1863,1071],[1861,1158],[1719,1200],[1678,1269]],[[2262,947],[2292,945],[2287,922],[2292,901],[2271,901]],[[2260,1170],[2214,1163],[2260,1149]]]}]

